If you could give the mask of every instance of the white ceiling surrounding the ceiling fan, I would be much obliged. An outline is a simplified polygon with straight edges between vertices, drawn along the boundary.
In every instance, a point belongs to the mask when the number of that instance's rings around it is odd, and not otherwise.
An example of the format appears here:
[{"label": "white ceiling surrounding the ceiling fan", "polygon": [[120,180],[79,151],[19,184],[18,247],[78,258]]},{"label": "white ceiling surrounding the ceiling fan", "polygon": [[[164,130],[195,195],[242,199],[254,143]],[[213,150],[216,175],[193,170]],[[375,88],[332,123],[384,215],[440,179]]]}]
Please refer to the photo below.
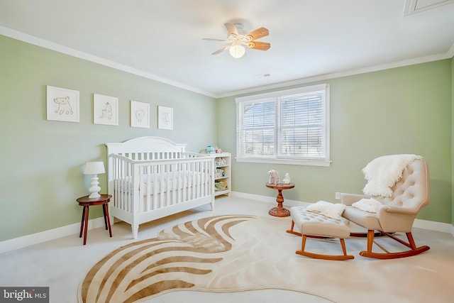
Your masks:
[{"label": "white ceiling surrounding the ceiling fan", "polygon": [[[453,57],[453,2],[0,0],[0,34],[224,97]],[[211,55],[226,22],[268,28],[270,50]]]}]

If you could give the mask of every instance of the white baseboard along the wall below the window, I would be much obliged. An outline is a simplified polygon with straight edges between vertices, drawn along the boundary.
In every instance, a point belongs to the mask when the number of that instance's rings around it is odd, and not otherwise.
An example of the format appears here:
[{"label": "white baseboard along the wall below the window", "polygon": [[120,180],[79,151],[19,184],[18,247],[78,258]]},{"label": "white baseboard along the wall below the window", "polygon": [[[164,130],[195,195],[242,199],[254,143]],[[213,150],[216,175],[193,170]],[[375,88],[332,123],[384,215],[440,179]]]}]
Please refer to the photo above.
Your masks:
[{"label": "white baseboard along the wall below the window", "polygon": [[[260,202],[276,202],[276,198],[274,198],[274,197],[260,196],[258,194],[245,194],[243,192],[232,192],[232,196],[238,197],[238,198],[243,198],[243,199],[256,200],[256,201],[260,201]],[[309,203],[285,199],[284,204],[287,206],[301,206],[301,205],[307,205]],[[428,229],[431,231],[441,231],[442,233],[450,233],[454,237],[453,224],[415,219],[413,226],[416,228],[423,228],[423,229]]]}]

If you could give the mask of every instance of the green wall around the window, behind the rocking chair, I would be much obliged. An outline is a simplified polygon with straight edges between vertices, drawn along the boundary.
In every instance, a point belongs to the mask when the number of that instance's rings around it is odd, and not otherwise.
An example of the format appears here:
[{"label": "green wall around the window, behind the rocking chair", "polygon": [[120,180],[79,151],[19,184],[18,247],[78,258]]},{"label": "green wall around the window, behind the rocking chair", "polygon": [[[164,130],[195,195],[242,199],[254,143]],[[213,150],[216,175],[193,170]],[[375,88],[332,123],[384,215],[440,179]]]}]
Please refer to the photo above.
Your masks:
[{"label": "green wall around the window, behind the rocking chair", "polygon": [[[232,189],[274,197],[267,171],[289,172],[297,186],[287,199],[336,202],[335,192],[361,193],[361,169],[381,155],[415,153],[428,162],[431,203],[419,219],[451,223],[453,60],[329,79],[331,166],[267,165],[233,161]],[[317,84],[314,82],[306,85]],[[293,88],[293,87],[288,87]],[[237,96],[238,97],[238,96]],[[235,97],[217,100],[218,145],[236,150]]]}]

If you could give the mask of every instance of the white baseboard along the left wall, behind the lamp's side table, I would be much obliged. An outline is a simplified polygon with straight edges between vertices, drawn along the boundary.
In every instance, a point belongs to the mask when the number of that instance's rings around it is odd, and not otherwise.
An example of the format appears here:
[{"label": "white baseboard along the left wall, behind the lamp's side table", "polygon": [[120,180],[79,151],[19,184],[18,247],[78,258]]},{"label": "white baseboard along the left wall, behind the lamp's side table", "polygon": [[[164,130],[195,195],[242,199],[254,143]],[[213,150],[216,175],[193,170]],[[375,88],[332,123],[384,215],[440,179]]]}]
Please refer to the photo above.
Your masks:
[{"label": "white baseboard along the left wall, behind the lamp's side table", "polygon": [[[88,221],[88,229],[104,226],[104,217],[96,218]],[[12,238],[10,240],[0,242],[0,253],[6,253],[10,250],[16,250],[34,244],[43,243],[46,241],[72,236],[80,232],[80,223],[74,223],[67,226],[41,231],[40,233],[32,233],[31,235]]]}]

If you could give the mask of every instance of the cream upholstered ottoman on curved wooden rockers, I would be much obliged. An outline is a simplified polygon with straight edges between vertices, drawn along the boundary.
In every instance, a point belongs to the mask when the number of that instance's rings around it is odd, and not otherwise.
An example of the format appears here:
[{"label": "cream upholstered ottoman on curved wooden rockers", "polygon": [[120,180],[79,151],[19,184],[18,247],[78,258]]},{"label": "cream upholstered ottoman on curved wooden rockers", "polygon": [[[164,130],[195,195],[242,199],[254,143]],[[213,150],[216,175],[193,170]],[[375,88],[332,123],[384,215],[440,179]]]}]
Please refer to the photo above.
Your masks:
[{"label": "cream upholstered ottoman on curved wooden rockers", "polygon": [[[297,236],[302,236],[301,250],[297,250],[297,254],[305,255],[310,258],[324,260],[348,260],[355,258],[353,255],[347,255],[345,249],[344,238],[350,236],[350,221],[340,217],[339,219],[331,219],[323,214],[307,210],[304,206],[293,206],[290,209],[292,216],[292,227],[287,233],[292,233]],[[301,231],[294,231],[294,228]],[[343,255],[322,255],[319,253],[309,253],[304,250],[306,246],[306,238],[339,238]]]}]

